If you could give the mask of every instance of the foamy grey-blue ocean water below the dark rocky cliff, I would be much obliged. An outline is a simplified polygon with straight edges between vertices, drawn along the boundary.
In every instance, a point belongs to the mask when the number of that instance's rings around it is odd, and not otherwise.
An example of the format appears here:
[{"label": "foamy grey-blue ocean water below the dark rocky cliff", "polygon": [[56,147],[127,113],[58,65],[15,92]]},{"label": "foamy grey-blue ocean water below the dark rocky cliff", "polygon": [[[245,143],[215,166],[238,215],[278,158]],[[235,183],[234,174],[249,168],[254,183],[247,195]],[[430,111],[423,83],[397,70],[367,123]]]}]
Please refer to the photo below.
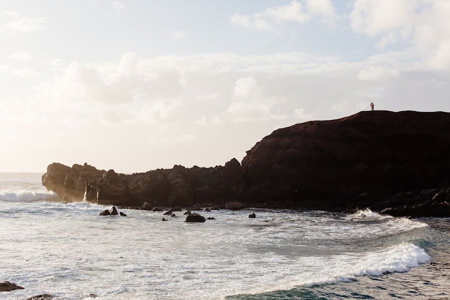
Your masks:
[{"label": "foamy grey-blue ocean water below the dark rocky cliff", "polygon": [[[60,203],[41,173],[0,173],[0,299],[449,299],[450,218],[368,209],[162,212]],[[256,218],[248,218],[254,211]]]}]

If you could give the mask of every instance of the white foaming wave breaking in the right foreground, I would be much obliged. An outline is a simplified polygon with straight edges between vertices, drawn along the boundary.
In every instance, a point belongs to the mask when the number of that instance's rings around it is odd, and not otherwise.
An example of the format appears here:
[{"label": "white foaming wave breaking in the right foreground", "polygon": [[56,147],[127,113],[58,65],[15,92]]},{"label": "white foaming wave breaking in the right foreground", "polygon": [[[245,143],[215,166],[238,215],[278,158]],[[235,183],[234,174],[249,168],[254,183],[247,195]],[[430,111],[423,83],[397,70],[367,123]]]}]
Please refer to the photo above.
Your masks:
[{"label": "white foaming wave breaking in the right foreground", "polygon": [[[305,279],[305,274],[303,273],[297,277],[297,280],[291,280],[288,285],[281,284],[274,288],[254,290],[249,293],[231,293],[227,296],[270,293],[277,290],[290,290],[300,286],[310,287],[352,281],[356,277],[364,275],[380,276],[385,273],[405,272],[412,267],[428,262],[430,259],[430,256],[424,249],[410,242],[402,242],[387,249],[373,251],[364,255],[340,254],[332,256],[333,264],[331,265],[336,265],[336,267],[329,268],[322,274],[313,274],[311,279]],[[226,299],[227,296],[222,296],[221,298]]]}]

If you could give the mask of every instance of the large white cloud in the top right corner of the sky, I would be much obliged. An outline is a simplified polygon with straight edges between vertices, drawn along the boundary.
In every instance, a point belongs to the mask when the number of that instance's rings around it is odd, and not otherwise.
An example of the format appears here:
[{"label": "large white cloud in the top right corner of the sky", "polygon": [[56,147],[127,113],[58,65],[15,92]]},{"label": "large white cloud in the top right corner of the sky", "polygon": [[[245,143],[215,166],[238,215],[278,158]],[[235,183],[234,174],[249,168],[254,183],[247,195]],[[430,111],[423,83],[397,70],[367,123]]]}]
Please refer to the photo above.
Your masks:
[{"label": "large white cloud in the top right corner of the sky", "polygon": [[422,63],[434,69],[450,67],[450,1],[356,0],[349,15],[351,28],[378,36],[376,45],[406,42]]}]

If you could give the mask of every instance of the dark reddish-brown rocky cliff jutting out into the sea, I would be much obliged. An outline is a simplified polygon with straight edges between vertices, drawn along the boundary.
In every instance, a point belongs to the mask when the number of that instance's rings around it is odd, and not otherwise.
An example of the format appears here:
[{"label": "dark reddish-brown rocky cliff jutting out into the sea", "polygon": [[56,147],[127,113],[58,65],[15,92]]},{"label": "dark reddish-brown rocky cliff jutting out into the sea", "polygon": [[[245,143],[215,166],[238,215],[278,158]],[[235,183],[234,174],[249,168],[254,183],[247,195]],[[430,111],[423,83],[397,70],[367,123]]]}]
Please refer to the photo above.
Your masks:
[{"label": "dark reddish-brown rocky cliff jutting out into the sea", "polygon": [[[362,111],[281,128],[224,166],[118,174],[48,166],[42,184],[102,204],[247,206],[449,215],[450,113]],[[438,196],[436,196],[438,194]]]}]

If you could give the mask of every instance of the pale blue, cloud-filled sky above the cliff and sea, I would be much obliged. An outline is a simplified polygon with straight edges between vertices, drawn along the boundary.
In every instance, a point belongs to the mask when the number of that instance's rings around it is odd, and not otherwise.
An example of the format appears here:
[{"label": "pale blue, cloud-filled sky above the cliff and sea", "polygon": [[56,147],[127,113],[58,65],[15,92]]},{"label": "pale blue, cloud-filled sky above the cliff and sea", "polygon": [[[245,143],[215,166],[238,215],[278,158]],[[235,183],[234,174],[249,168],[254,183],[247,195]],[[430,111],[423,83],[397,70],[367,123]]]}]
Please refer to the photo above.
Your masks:
[{"label": "pale blue, cloud-filled sky above the cliff and sea", "polygon": [[0,171],[239,161],[274,129],[449,111],[448,0],[2,0]]}]

